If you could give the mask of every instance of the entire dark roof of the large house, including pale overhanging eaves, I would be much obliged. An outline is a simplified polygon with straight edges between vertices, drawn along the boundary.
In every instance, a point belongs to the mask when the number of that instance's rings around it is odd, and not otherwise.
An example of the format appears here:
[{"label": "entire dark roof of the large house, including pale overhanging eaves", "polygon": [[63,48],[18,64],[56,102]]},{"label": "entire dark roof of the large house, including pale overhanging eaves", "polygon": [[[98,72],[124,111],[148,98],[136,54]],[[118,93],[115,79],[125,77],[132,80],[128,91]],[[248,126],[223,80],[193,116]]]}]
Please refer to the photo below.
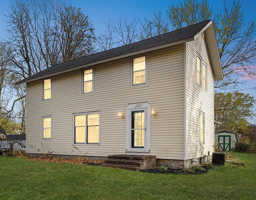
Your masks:
[{"label": "entire dark roof of the large house, including pale overhanging eaves", "polygon": [[176,31],[158,35],[156,37],[151,37],[149,39],[138,41],[129,45],[124,45],[107,51],[102,51],[100,53],[88,55],[86,57],[81,57],[72,61],[54,65],[48,69],[45,69],[44,71],[25,78],[17,84],[26,83],[53,75],[58,75],[90,65],[96,65],[99,63],[120,59],[122,57],[136,55],[138,53],[145,53],[164,47],[186,43],[188,41],[195,40],[198,35],[200,35],[203,31],[205,31],[204,35],[206,38],[208,52],[212,63],[214,80],[222,80],[223,74],[220,64],[220,57],[218,54],[218,46],[214,31],[214,25],[212,20],[207,20],[205,22],[201,22],[182,29],[178,29]]}]

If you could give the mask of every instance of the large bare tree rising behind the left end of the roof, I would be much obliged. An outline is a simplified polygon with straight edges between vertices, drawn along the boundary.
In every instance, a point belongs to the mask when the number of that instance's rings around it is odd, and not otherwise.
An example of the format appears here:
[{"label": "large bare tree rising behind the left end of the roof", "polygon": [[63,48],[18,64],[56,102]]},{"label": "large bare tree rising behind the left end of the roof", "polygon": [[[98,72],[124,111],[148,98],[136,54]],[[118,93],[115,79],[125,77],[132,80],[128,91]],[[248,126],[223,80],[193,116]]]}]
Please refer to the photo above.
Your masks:
[{"label": "large bare tree rising behind the left end of the roof", "polygon": [[12,61],[24,78],[93,52],[94,28],[80,8],[16,0],[8,14]]}]

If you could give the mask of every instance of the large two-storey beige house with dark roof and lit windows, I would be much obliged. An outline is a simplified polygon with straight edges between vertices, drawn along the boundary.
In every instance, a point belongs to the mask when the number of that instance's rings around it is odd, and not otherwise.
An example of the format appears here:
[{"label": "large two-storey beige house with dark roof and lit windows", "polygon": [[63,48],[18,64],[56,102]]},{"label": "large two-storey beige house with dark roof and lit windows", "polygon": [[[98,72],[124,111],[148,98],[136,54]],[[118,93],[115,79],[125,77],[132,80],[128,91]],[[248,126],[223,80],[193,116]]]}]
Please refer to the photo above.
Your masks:
[{"label": "large two-storey beige house with dark roof and lit windows", "polygon": [[211,20],[52,66],[17,83],[27,87],[27,153],[190,167],[214,151],[222,78]]}]

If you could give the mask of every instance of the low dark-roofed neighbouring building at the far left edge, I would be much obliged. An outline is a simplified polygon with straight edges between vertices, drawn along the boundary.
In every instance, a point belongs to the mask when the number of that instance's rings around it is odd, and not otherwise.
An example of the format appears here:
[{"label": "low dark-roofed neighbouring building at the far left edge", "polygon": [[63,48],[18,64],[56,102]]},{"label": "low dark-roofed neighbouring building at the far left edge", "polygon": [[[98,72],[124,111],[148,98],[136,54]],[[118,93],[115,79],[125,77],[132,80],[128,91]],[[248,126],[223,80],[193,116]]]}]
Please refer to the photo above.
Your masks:
[{"label": "low dark-roofed neighbouring building at the far left edge", "polygon": [[9,135],[0,126],[0,150],[26,151],[26,135]]}]

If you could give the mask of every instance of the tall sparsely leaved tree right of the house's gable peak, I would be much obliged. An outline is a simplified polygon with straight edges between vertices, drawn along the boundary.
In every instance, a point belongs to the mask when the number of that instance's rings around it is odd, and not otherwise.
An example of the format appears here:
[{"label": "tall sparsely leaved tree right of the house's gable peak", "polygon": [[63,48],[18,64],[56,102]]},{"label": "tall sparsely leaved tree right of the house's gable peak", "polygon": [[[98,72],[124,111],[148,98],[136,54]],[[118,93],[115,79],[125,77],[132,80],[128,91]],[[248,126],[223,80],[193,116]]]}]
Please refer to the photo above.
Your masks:
[{"label": "tall sparsely leaved tree right of the house's gable peak", "polygon": [[231,88],[244,83],[241,77],[256,78],[256,26],[247,22],[242,3],[228,4],[224,0],[223,10],[215,14],[215,29],[219,55],[224,74],[216,88]]}]

